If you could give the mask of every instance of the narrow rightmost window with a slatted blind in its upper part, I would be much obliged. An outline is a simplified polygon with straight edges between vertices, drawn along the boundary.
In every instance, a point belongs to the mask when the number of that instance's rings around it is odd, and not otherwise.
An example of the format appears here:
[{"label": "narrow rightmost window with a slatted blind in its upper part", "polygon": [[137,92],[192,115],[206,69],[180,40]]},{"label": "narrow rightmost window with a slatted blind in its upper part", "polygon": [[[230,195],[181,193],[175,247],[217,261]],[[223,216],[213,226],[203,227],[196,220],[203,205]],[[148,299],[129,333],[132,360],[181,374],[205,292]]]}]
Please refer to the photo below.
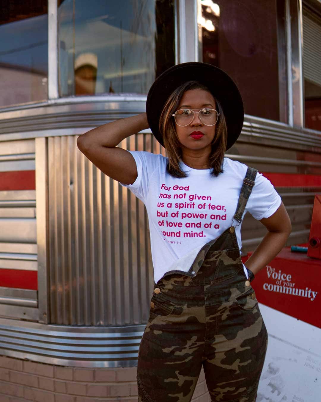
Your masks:
[{"label": "narrow rightmost window with a slatted blind in its upper part", "polygon": [[321,131],[321,15],[303,7],[305,127]]}]

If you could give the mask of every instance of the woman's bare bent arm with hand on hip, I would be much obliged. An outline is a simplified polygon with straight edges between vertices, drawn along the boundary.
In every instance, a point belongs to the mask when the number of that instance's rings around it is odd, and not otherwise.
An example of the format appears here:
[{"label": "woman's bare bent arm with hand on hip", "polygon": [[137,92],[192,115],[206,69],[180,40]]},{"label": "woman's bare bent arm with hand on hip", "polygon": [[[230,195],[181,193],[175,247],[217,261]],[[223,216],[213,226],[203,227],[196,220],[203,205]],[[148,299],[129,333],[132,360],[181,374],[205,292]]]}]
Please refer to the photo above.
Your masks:
[{"label": "woman's bare bent arm with hand on hip", "polygon": [[261,219],[260,222],[267,228],[268,233],[245,263],[254,275],[282,250],[291,233],[290,218],[283,203],[272,216]]}]

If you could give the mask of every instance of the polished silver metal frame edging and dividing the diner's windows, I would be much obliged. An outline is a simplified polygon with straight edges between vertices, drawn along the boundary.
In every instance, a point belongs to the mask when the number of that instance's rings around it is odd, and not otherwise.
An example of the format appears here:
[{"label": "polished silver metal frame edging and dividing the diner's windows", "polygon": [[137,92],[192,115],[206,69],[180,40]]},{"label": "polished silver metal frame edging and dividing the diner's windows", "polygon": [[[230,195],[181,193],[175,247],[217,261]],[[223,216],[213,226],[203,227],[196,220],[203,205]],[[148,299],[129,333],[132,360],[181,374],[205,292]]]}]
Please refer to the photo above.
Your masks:
[{"label": "polished silver metal frame edging and dividing the diner's windows", "polygon": [[[286,42],[286,61],[287,61],[287,123],[272,119],[262,119],[254,115],[246,115],[249,119],[255,119],[266,123],[277,123],[282,126],[297,129],[304,129],[316,133],[319,131],[307,129],[304,122],[304,88],[303,88],[303,29],[302,14],[303,2],[310,7],[321,10],[320,0],[276,0],[277,8],[285,7],[285,38]],[[61,103],[83,103],[100,100],[110,100],[109,95],[89,95],[89,96],[59,96],[58,81],[58,2],[48,0],[48,99],[47,101],[35,101],[32,103],[22,103],[0,108],[2,111],[12,111],[17,109],[29,109],[30,107],[61,104]],[[202,41],[201,41],[201,0],[175,0],[175,62],[184,63],[191,61],[201,61]],[[117,96],[119,99],[127,100],[128,96]],[[134,99],[145,99],[146,95],[135,95]]]}]

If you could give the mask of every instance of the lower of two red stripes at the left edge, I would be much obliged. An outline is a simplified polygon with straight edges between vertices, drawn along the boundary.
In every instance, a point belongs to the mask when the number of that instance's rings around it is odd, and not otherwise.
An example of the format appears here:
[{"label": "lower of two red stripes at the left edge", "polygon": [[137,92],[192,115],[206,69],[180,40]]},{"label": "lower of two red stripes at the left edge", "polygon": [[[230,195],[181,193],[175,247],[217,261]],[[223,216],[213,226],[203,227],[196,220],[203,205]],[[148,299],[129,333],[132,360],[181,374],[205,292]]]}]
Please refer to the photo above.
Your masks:
[{"label": "lower of two red stripes at the left edge", "polygon": [[38,290],[38,273],[22,269],[0,269],[0,286]]}]

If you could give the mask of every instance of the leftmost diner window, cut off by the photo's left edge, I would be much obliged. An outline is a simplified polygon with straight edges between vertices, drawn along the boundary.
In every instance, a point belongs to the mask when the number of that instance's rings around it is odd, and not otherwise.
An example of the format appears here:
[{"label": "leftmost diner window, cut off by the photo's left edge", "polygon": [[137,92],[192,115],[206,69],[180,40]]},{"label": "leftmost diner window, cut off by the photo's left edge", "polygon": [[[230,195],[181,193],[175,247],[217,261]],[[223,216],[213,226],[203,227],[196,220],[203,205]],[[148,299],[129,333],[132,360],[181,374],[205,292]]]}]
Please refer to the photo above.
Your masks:
[{"label": "leftmost diner window, cut off by the photo's left edge", "polygon": [[47,3],[0,2],[0,107],[47,99]]}]

